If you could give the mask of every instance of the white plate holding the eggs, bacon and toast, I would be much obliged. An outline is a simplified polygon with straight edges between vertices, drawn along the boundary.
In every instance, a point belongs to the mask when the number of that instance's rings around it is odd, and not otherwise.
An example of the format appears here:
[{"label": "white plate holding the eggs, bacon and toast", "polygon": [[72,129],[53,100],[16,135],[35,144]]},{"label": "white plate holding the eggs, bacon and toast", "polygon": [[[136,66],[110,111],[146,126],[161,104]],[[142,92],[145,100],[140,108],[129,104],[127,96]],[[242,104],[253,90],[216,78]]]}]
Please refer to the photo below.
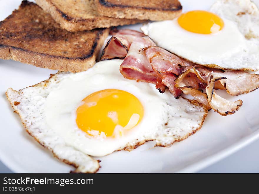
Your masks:
[{"label": "white plate holding the eggs, bacon and toast", "polygon": [[[0,19],[7,17],[21,1],[0,0]],[[214,0],[182,0],[184,11],[209,9]],[[259,0],[255,1],[259,4]],[[137,29],[140,25],[129,28]],[[73,167],[63,164],[29,136],[6,100],[9,87],[22,89],[49,78],[56,71],[15,61],[0,60],[0,159],[14,172],[69,172]],[[221,92],[227,96],[224,92]],[[222,159],[259,138],[259,89],[232,100],[243,100],[243,106],[226,117],[212,111],[200,131],[170,148],[152,146],[152,142],[134,151],[119,151],[100,157],[99,172],[195,172]]]}]

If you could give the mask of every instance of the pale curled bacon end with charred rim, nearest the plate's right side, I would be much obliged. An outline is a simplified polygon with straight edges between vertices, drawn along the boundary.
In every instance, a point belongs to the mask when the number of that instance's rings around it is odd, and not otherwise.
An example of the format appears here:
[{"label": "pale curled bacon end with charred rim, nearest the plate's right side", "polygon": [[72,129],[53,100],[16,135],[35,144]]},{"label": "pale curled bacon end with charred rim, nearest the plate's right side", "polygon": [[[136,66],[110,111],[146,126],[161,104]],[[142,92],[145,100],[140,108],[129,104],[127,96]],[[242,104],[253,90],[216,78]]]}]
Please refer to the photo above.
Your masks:
[{"label": "pale curled bacon end with charred rim, nearest the plate's right side", "polygon": [[218,79],[211,79],[210,84],[206,87],[206,92],[208,96],[208,103],[212,109],[219,113],[222,116],[234,114],[235,111],[242,106],[243,101],[237,100],[235,102],[231,102],[226,100],[215,93],[214,87],[215,82],[226,79],[225,77],[221,77]]}]

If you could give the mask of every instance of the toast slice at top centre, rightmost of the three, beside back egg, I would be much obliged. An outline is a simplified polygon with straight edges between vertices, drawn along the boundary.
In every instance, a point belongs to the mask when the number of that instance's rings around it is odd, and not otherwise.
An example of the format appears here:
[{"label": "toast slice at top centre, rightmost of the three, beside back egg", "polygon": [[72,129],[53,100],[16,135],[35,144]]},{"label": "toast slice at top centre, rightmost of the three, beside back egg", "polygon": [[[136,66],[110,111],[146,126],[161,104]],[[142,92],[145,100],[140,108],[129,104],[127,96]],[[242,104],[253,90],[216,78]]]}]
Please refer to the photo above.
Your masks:
[{"label": "toast slice at top centre, rightmost of the three, beside back egg", "polygon": [[95,0],[99,15],[115,18],[137,18],[153,21],[179,16],[182,5],[178,0]]}]

